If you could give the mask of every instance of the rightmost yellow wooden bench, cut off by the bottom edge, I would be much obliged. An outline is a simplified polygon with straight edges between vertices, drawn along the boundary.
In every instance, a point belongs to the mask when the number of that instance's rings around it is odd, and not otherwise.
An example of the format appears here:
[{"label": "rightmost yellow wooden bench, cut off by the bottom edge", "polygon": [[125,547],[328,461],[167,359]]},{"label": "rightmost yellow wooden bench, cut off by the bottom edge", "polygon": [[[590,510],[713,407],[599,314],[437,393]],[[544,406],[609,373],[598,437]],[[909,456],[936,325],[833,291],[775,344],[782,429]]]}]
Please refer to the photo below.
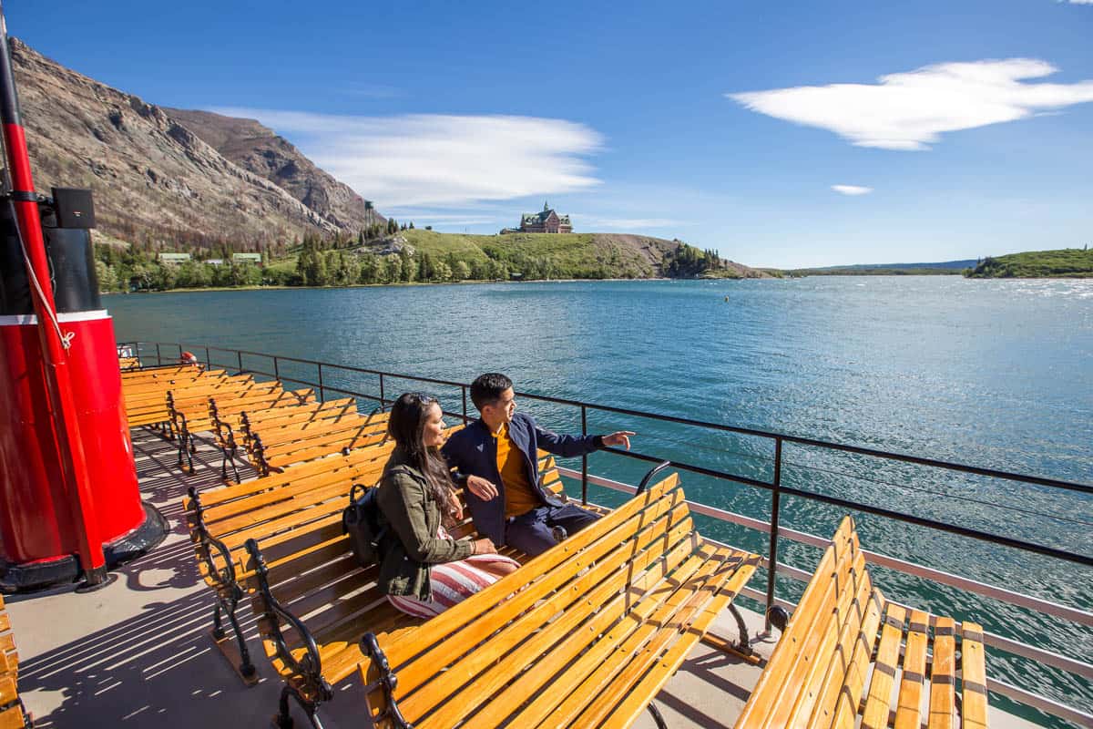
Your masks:
[{"label": "rightmost yellow wooden bench, cut off by the bottom edge", "polygon": [[956,630],[952,618],[884,598],[846,517],[736,727],[855,726],[985,729],[986,663],[979,625],[965,622]]}]

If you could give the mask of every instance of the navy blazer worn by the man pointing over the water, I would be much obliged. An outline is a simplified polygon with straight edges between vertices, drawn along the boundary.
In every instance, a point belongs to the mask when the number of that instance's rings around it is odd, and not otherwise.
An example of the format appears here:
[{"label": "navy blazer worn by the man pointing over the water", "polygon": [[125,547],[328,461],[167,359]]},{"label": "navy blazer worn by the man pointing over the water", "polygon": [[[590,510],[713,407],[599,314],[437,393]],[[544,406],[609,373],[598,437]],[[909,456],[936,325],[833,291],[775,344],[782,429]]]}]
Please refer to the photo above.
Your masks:
[{"label": "navy blazer worn by the man pointing over the water", "polygon": [[[528,483],[539,495],[544,505],[560,506],[561,502],[540,483],[539,460],[537,455],[542,448],[556,456],[584,456],[601,447],[602,439],[598,435],[559,435],[544,431],[536,424],[530,415],[516,413],[508,424],[508,436],[513,445],[524,456],[524,468],[528,474]],[[486,424],[479,419],[457,431],[440,448],[448,465],[456,469],[456,481],[463,486],[467,495],[467,506],[470,508],[474,528],[480,534],[489,537],[494,544],[505,543],[505,484],[501,481],[497,470],[497,442]],[[483,501],[467,489],[467,477],[478,475],[496,484],[497,496]]]}]

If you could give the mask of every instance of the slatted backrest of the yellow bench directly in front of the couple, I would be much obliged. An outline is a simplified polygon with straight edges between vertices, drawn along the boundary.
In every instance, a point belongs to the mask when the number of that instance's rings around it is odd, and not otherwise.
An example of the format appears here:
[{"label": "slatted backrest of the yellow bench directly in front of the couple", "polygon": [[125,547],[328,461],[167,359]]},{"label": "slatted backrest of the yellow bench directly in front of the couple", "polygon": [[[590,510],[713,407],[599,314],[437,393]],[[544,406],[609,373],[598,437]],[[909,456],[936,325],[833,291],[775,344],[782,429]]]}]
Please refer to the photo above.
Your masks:
[{"label": "slatted backrest of the yellow bench directly in front of the couple", "polygon": [[[588,695],[587,686],[576,685],[580,679],[566,685],[555,673],[583,656],[589,636],[625,621],[639,596],[671,583],[661,580],[681,563],[697,568],[689,579],[707,578],[702,560],[691,560],[700,543],[672,474],[437,618],[386,635],[376,632],[398,677],[395,698],[402,715],[410,721],[427,716],[425,724],[438,727],[498,726],[516,710],[521,714],[512,726],[538,726],[546,716],[553,721],[565,696]],[[660,607],[657,600],[642,604]],[[616,647],[608,639],[591,650],[606,658]],[[383,722],[387,706],[374,683],[381,669],[366,660],[361,671],[372,689],[368,709]],[[471,679],[473,690],[465,690]],[[538,693],[548,682],[549,690]],[[542,702],[522,706],[537,693]]]}]

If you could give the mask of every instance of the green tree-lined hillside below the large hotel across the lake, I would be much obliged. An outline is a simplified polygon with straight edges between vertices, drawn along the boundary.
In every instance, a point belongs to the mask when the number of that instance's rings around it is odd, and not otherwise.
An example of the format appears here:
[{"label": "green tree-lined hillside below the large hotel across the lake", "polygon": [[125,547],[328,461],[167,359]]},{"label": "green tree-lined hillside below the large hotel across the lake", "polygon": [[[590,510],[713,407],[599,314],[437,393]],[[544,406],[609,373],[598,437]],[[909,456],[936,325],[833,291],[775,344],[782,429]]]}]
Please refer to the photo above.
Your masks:
[{"label": "green tree-lined hillside below the large hotel across the lake", "polygon": [[158,249],[97,245],[102,291],[237,286],[351,286],[550,279],[771,278],[680,240],[577,233],[459,235],[407,228],[356,240],[305,238],[262,251],[263,266],[234,263],[231,246],[189,247],[192,260],[164,263]]}]

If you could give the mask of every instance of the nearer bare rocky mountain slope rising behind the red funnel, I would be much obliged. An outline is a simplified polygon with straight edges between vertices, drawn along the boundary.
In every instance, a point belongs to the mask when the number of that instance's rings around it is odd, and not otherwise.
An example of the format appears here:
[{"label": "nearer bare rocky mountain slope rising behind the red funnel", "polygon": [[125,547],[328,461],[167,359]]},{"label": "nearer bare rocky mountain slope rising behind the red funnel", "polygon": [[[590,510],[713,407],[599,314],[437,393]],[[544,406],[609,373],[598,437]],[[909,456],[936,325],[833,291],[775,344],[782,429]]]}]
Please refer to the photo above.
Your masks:
[{"label": "nearer bare rocky mountain slope rising behind the red funnel", "polygon": [[[219,141],[237,163],[202,138],[212,136],[211,125],[199,134],[164,108],[11,40],[35,185],[47,193],[51,186],[90,187],[102,233],[168,247],[226,243],[239,249],[359,232],[364,201],[305,165],[306,157],[269,130],[251,154],[242,134],[223,133]],[[224,126],[259,128],[237,121]],[[293,162],[281,169],[295,172],[279,173],[272,163],[265,171],[271,179],[249,168],[263,150]],[[278,175],[292,190],[273,181]]]}]

